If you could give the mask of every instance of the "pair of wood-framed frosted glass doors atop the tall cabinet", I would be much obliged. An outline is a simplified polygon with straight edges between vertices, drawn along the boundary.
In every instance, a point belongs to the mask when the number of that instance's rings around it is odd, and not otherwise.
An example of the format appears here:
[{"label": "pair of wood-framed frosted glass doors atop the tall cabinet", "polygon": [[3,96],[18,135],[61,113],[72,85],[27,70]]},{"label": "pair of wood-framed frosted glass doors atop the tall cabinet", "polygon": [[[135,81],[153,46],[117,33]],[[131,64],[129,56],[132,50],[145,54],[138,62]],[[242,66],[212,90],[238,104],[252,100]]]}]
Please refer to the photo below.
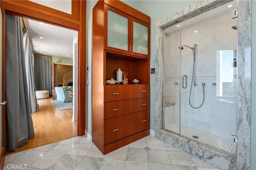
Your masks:
[{"label": "pair of wood-framed frosted glass doors atop the tall cabinet", "polygon": [[104,49],[149,57],[150,24],[104,4]]}]

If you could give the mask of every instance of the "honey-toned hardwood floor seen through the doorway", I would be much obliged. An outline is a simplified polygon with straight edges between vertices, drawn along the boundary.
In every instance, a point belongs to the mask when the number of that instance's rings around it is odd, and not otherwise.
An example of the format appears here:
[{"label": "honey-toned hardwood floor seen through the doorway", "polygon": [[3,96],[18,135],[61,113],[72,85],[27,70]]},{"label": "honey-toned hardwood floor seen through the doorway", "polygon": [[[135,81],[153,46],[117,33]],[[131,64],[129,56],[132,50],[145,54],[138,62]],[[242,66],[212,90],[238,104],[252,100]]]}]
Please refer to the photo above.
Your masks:
[{"label": "honey-toned hardwood floor seen through the doorway", "polygon": [[39,109],[32,113],[35,137],[20,149],[6,152],[6,155],[77,136],[77,121],[72,121],[72,109],[59,111],[51,99],[37,100]]}]

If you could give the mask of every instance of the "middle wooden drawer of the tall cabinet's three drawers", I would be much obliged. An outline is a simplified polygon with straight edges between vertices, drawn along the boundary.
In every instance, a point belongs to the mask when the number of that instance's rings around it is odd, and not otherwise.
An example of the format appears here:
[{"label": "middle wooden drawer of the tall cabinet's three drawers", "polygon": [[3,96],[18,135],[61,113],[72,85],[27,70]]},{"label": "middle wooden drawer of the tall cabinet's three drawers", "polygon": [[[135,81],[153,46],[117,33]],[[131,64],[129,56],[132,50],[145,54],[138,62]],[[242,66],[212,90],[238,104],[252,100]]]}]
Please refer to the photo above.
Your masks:
[{"label": "middle wooden drawer of the tall cabinet's three drawers", "polygon": [[104,103],[104,119],[150,109],[150,98],[138,98]]}]

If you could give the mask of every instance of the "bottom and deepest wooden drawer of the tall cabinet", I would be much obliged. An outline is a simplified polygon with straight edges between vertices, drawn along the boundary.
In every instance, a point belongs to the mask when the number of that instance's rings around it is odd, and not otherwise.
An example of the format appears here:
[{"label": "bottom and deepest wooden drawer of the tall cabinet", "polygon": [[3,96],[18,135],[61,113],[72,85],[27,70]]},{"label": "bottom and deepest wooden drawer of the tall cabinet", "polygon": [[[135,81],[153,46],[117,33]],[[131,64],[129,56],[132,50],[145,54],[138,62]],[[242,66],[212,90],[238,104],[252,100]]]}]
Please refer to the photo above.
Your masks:
[{"label": "bottom and deepest wooden drawer of the tall cabinet", "polygon": [[104,145],[128,137],[150,125],[149,110],[104,120]]}]

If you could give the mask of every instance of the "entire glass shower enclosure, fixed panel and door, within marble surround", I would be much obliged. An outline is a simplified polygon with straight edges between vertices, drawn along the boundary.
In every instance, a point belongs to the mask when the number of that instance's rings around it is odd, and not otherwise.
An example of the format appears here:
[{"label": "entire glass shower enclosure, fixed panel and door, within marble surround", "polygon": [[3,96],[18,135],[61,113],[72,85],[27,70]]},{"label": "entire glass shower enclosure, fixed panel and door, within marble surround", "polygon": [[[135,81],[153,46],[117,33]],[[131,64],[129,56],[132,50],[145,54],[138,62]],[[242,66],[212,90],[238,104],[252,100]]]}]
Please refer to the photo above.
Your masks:
[{"label": "entire glass shower enclosure, fixed panel and door, within marble surround", "polygon": [[236,3],[163,30],[163,129],[231,156],[236,156],[237,18],[231,14]]}]

